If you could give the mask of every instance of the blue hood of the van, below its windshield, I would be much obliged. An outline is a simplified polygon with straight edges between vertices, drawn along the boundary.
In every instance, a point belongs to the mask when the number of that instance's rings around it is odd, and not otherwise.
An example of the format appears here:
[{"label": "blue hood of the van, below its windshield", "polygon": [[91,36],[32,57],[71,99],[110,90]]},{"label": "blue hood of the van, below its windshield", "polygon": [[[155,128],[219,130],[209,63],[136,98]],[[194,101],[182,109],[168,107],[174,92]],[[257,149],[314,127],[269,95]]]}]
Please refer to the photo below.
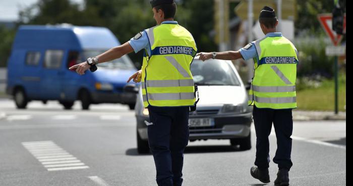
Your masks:
[{"label": "blue hood of the van, below its windshield", "polygon": [[108,68],[99,68],[96,72],[93,73],[93,76],[97,81],[103,83],[123,83],[126,84],[126,81],[129,77],[134,74],[136,69],[108,69]]}]

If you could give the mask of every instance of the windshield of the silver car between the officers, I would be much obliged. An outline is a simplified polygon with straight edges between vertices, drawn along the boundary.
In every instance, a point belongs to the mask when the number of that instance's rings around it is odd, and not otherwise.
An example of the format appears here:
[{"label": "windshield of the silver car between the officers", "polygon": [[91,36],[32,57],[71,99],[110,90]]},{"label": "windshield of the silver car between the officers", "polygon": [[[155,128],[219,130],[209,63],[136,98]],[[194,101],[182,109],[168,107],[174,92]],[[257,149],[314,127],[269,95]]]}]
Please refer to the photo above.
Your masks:
[{"label": "windshield of the silver car between the officers", "polygon": [[191,73],[197,85],[231,85],[240,86],[239,79],[231,66],[221,60],[195,59],[191,64]]}]

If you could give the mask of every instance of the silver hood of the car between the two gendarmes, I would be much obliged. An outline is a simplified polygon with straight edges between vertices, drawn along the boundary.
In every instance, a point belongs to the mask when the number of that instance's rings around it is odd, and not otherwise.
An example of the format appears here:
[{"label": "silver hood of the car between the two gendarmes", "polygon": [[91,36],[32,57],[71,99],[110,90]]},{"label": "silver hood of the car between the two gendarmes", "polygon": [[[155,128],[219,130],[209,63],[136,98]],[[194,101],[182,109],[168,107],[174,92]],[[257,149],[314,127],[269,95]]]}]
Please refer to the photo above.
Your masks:
[{"label": "silver hood of the car between the two gendarmes", "polygon": [[242,86],[198,86],[200,101],[197,106],[239,105],[247,102],[248,96]]}]

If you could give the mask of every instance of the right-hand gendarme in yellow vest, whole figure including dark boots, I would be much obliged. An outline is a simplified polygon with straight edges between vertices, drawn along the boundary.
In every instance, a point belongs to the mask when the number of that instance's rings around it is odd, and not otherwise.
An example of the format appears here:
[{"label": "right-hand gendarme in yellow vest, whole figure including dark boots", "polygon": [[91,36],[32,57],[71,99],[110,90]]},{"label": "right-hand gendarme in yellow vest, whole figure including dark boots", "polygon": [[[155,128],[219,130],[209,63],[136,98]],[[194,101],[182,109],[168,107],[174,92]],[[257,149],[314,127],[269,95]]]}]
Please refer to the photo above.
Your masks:
[{"label": "right-hand gendarme in yellow vest, whole figure including dark boots", "polygon": [[199,53],[200,60],[210,58],[255,61],[254,78],[249,92],[249,105],[254,106],[256,131],[256,160],[251,175],[264,183],[270,182],[268,172],[269,140],[272,123],[277,137],[277,151],[273,162],[278,164],[275,185],[289,185],[288,171],[292,166],[291,134],[292,109],[297,108],[296,78],[298,52],[282,33],[276,32],[278,20],[274,10],[265,6],[259,22],[265,37],[247,44],[239,51]]}]

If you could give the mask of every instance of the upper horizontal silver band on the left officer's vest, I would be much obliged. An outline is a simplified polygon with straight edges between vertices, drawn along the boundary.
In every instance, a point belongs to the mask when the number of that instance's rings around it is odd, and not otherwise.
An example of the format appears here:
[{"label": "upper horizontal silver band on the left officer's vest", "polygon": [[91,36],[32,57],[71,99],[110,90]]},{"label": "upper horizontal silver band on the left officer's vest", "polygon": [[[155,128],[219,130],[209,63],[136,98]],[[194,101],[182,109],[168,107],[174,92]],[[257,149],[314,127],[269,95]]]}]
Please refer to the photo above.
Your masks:
[{"label": "upper horizontal silver band on the left officer's vest", "polygon": [[[147,87],[177,87],[177,86],[194,86],[193,79],[180,80],[147,80]],[[145,82],[142,82],[145,87]]]}]

